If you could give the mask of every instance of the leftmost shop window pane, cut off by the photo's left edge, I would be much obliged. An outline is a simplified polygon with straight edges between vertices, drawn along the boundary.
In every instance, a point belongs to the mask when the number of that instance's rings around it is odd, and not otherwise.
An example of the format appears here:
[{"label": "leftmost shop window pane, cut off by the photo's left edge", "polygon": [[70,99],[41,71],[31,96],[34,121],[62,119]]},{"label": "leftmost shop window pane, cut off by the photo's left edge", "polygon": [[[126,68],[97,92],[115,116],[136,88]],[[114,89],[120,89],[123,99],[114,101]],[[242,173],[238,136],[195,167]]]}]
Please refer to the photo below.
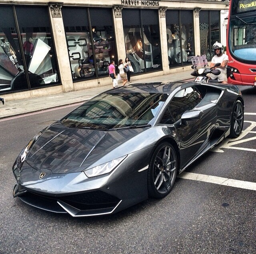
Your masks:
[{"label": "leftmost shop window pane, cut off by the photo's left edge", "polygon": [[0,8],[0,93],[28,89],[11,6]]}]

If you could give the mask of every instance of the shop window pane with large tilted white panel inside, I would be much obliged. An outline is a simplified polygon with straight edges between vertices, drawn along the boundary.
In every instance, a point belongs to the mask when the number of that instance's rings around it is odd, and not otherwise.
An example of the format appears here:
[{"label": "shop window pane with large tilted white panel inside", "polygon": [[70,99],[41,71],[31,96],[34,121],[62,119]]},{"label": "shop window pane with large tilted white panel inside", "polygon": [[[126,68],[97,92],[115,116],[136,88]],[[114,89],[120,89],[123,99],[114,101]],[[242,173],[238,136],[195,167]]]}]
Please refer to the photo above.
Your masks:
[{"label": "shop window pane with large tilted white panel inside", "polygon": [[58,83],[59,73],[48,8],[17,6],[16,14],[30,87]]}]

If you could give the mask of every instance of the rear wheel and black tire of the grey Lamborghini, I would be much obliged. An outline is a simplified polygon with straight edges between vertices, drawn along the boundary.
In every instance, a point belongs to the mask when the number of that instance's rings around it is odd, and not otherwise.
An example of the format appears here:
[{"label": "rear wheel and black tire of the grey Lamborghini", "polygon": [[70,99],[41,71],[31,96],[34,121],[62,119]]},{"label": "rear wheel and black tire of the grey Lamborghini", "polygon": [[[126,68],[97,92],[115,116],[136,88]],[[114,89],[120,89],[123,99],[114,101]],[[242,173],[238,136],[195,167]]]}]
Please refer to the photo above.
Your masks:
[{"label": "rear wheel and black tire of the grey Lamborghini", "polygon": [[238,137],[244,126],[244,106],[240,100],[234,103],[231,122],[230,122],[230,138]]}]

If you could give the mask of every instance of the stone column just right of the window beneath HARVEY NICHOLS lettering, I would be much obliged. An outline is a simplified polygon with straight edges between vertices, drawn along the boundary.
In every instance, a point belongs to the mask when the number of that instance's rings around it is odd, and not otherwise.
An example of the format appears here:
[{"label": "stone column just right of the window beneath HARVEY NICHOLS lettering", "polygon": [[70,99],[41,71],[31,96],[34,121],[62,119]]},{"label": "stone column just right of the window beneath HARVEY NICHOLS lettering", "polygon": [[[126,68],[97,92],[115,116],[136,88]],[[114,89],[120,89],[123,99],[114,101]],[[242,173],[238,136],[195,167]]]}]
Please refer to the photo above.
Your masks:
[{"label": "stone column just right of the window beneath HARVEY NICHOLS lettering", "polygon": [[166,31],[166,10],[167,7],[159,7],[159,27],[160,27],[160,41],[161,41],[161,54],[162,54],[162,68],[164,75],[170,73],[168,62],[168,44],[167,44],[167,31]]}]

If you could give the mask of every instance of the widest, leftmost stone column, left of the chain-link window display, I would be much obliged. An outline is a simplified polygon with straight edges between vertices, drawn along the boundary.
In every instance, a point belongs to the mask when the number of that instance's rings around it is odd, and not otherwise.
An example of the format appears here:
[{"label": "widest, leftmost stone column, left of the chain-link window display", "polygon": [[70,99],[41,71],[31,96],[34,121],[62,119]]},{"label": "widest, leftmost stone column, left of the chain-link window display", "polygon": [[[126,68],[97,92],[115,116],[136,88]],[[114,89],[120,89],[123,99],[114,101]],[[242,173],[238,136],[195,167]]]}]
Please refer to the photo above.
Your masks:
[{"label": "widest, leftmost stone column, left of the chain-link window display", "polygon": [[66,34],[62,21],[61,8],[63,3],[49,2],[50,21],[52,24],[52,33],[56,47],[56,57],[58,61],[60,79],[64,92],[74,91],[70,62],[68,56],[68,48],[66,42]]}]

